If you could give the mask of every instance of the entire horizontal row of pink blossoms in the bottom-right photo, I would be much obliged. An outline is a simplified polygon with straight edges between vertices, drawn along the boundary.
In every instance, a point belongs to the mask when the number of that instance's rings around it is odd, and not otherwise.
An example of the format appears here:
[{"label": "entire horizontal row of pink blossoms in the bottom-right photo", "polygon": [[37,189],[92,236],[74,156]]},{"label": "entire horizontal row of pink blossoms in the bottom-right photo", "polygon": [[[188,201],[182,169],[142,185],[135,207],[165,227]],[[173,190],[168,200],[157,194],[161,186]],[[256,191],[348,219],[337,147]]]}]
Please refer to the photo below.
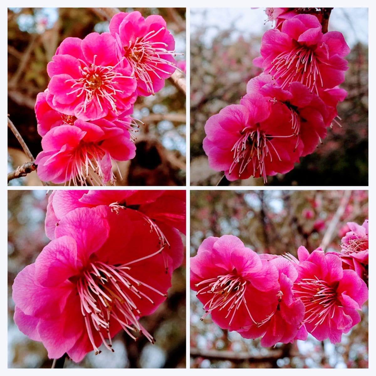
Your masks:
[{"label": "entire horizontal row of pink blossoms in the bottom-right photo", "polygon": [[278,342],[317,340],[341,342],[360,321],[358,310],[368,299],[368,220],[348,223],[341,252],[298,258],[287,254],[258,255],[233,235],[209,237],[191,258],[191,288],[203,303],[205,318],[244,338],[260,338],[264,347]]}]

